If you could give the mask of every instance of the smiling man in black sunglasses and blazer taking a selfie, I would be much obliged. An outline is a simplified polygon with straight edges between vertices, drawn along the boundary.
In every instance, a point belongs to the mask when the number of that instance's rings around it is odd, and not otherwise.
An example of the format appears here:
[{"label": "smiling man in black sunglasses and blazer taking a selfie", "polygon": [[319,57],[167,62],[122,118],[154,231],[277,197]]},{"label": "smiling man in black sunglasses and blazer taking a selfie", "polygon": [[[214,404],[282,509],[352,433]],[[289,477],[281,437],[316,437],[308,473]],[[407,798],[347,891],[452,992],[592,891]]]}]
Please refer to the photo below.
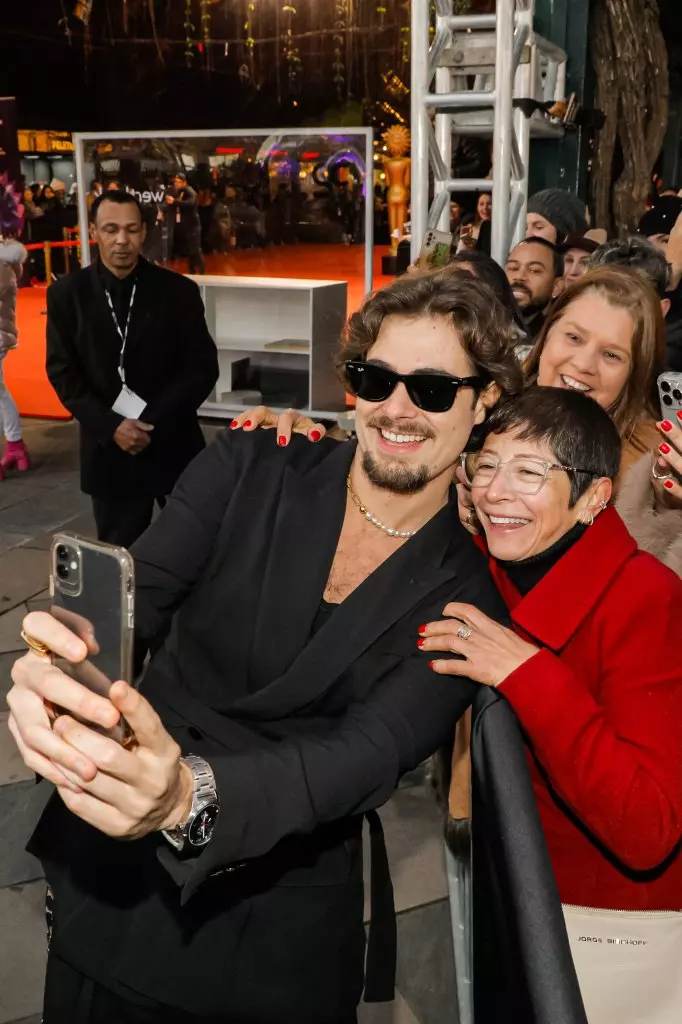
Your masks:
[{"label": "smiling man in black sunglasses and blazer taking a selfie", "polygon": [[[137,633],[156,650],[141,691],[119,684],[105,700],[38,653],[17,663],[12,732],[57,786],[31,843],[54,891],[46,1021],[351,1024],[364,984],[368,999],[391,997],[374,812],[452,742],[476,695],[430,669],[420,626],[450,601],[505,616],[452,483],[486,388],[520,386],[514,342],[465,273],[377,293],[347,329],[357,440],[283,451],[265,431],[224,432],[133,549]],[[84,656],[49,616],[25,632]],[[48,700],[100,725],[121,713],[136,743],[69,714],[53,722]],[[488,735],[496,755],[505,735]],[[516,777],[513,757],[503,768]],[[492,850],[504,829],[486,813],[479,848]],[[491,870],[482,893],[498,891]],[[513,943],[491,942],[507,961]],[[482,990],[504,994],[493,974]]]}]

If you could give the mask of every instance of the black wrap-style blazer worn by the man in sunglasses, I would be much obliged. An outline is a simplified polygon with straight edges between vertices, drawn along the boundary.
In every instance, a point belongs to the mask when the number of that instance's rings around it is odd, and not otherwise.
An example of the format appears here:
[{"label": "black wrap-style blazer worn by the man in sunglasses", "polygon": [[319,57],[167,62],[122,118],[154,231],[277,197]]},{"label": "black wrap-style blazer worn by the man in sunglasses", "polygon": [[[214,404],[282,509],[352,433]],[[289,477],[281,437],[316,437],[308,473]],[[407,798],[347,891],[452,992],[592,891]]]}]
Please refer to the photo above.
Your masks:
[{"label": "black wrap-style blazer worn by the man in sunglasses", "polygon": [[[31,849],[55,892],[54,950],[110,987],[268,1024],[321,1024],[359,999],[361,816],[452,741],[478,690],[428,669],[419,626],[449,600],[506,609],[453,500],[311,636],[354,451],[224,433],[135,546],[140,634],[158,642],[172,618],[142,689],[212,764],[221,812],[210,846],[182,860],[158,836],[110,840],[52,800]],[[497,721],[502,749],[519,752],[506,782],[529,795],[520,827],[542,861],[520,734],[491,702],[484,756]],[[556,965],[570,987],[569,962]]]}]

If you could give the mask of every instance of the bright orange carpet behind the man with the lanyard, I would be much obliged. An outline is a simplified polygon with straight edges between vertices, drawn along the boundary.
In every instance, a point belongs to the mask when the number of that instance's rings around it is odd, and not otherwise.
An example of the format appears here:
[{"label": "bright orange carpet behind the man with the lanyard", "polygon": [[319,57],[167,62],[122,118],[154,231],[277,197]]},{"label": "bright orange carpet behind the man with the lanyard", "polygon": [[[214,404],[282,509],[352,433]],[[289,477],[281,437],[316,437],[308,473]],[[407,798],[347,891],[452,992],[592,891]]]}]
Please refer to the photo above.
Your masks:
[{"label": "bright orange carpet behind the man with the lanyard", "polygon": [[[375,249],[375,288],[390,281],[381,275],[381,257],[387,252],[388,249]],[[348,312],[351,313],[365,297],[364,260],[363,246],[282,246],[207,256],[206,272],[228,276],[347,281]],[[185,267],[178,263],[174,269]],[[45,295],[44,287],[19,289],[16,303],[19,345],[4,361],[5,381],[22,416],[69,419],[69,413],[45,375]]]}]

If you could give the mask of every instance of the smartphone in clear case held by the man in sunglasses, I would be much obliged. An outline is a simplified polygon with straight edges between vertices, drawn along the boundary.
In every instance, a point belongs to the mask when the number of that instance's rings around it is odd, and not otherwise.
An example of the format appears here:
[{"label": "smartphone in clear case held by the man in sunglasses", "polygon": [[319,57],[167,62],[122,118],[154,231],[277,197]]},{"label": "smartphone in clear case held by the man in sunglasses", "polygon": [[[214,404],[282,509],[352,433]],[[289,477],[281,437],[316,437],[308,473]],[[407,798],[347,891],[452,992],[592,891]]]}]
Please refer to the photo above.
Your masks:
[{"label": "smartphone in clear case held by the man in sunglasses", "polygon": [[[50,611],[88,645],[84,662],[55,659],[62,672],[100,696],[109,695],[114,682],[132,683],[134,607],[134,564],[125,548],[55,534],[50,549]],[[124,746],[133,738],[123,719],[113,729],[85,724]]]}]

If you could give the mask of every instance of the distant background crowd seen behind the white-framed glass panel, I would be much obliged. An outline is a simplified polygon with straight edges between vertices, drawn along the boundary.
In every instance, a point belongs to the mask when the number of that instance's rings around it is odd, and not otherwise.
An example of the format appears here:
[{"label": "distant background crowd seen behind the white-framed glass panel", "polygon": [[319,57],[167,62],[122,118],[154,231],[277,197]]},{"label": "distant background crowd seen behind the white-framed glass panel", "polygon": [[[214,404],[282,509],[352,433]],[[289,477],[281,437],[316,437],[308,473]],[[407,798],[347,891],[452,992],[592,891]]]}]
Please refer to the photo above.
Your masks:
[{"label": "distant background crowd seen behind the white-framed glass panel", "polygon": [[[205,256],[233,250],[263,249],[297,242],[359,244],[365,239],[363,187],[352,173],[337,169],[331,177],[311,178],[302,188],[298,174],[270,178],[266,164],[236,160],[229,167],[200,166],[194,172],[130,180],[101,176],[91,181],[88,210],[103,191],[134,190],[160,197],[142,204],[146,238],[144,256],[166,265],[185,261],[189,273],[203,273]],[[375,237],[388,242],[386,188],[375,189]],[[78,189],[62,181],[33,182],[24,191],[24,244],[60,242],[65,228],[78,225]],[[53,275],[67,269],[63,255],[53,253]],[[77,269],[73,260],[69,269]],[[45,281],[41,250],[29,257],[30,278]]]}]

